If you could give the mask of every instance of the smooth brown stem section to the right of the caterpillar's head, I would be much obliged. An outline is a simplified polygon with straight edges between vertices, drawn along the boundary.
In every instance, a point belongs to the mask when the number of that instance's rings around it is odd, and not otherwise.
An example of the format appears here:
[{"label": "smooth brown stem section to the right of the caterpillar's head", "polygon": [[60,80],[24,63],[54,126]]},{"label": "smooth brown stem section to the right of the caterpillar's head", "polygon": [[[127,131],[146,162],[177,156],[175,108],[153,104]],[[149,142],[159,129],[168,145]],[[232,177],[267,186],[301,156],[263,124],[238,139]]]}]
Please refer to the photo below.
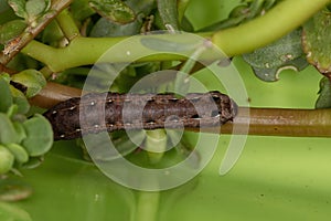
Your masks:
[{"label": "smooth brown stem section to the right of the caterpillar's head", "polygon": [[[249,113],[249,115],[247,115]],[[331,108],[285,109],[239,108],[234,123],[222,125],[221,134],[247,134],[261,136],[331,137]],[[234,129],[235,126],[235,129]],[[199,131],[200,128],[186,130]],[[215,128],[203,128],[215,133]]]}]

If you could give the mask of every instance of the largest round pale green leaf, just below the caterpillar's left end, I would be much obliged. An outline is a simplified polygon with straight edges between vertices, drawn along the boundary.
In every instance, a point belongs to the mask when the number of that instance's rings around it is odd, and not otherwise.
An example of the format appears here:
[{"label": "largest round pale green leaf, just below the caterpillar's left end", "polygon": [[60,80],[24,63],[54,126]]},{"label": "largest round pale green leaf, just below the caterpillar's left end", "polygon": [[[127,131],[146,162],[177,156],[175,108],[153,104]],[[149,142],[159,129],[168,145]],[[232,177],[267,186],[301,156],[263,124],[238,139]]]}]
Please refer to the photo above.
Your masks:
[{"label": "largest round pale green leaf, just below the caterpillar's left end", "polygon": [[53,130],[49,120],[40,114],[23,123],[26,138],[22,146],[28,150],[29,156],[36,157],[47,152],[53,145]]}]

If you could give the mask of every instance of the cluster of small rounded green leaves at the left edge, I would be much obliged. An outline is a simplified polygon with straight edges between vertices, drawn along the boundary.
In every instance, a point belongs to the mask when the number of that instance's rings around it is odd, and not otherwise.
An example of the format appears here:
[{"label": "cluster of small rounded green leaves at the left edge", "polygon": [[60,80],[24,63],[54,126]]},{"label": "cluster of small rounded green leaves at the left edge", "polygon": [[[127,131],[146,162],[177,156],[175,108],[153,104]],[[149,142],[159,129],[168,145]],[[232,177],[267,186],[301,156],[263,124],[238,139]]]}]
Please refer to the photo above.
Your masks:
[{"label": "cluster of small rounded green leaves at the left edge", "polygon": [[[12,77],[0,75],[0,175],[35,165],[52,147],[50,123],[40,114],[26,117],[30,109],[26,96],[34,96],[43,84],[45,80],[34,70]],[[24,87],[25,94],[13,85]]]}]

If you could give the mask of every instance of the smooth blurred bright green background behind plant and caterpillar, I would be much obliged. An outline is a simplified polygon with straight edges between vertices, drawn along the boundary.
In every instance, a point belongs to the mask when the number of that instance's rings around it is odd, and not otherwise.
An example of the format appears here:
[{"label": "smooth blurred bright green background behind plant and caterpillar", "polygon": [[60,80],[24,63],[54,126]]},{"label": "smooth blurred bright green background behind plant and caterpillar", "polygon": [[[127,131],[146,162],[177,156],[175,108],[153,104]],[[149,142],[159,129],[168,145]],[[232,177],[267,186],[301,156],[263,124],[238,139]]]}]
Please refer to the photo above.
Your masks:
[{"label": "smooth blurred bright green background behind plant and caterpillar", "polygon": [[[188,17],[195,28],[202,28],[226,18],[237,2],[192,0]],[[313,107],[321,78],[314,69],[286,71],[278,82],[264,83],[241,57],[234,64],[252,106]],[[203,82],[214,87],[212,77],[204,74]],[[249,136],[238,162],[220,176],[229,139],[231,135],[221,136],[214,158],[200,176],[160,193],[156,220],[330,220],[329,138]],[[23,171],[33,196],[12,206],[25,210],[34,221],[138,220],[139,193],[78,159],[78,151],[73,141],[56,143],[41,167]],[[150,204],[150,211],[156,207]]]}]

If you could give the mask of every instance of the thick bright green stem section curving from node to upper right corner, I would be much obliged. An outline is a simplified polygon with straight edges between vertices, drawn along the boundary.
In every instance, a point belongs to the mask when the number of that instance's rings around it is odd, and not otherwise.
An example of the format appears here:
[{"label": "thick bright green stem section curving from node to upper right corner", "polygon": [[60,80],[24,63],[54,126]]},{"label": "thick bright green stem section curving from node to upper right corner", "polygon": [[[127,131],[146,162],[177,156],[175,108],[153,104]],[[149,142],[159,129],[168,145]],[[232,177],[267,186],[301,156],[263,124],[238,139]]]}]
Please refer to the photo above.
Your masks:
[{"label": "thick bright green stem section curving from node to upper right corner", "polygon": [[285,0],[263,17],[218,31],[212,41],[228,56],[248,53],[297,29],[329,2],[330,0]]}]

